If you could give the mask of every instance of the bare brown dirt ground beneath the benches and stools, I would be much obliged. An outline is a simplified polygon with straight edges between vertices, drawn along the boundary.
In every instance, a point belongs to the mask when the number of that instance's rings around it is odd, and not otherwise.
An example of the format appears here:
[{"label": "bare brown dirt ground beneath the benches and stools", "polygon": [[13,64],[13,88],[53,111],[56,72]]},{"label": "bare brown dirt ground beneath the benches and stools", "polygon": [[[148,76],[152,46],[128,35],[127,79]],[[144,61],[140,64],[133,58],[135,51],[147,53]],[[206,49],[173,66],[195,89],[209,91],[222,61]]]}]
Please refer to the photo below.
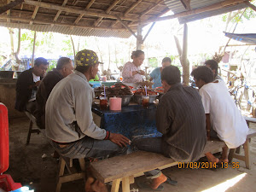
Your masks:
[{"label": "bare brown dirt ground beneath the benches and stools", "polygon": [[[29,120],[27,118],[9,120],[9,170],[15,182],[34,189],[35,192],[54,192],[58,173],[58,160],[51,157],[54,150],[42,134],[33,133],[30,144],[26,146]],[[256,129],[256,125],[251,124]],[[46,158],[42,155],[46,154]],[[252,192],[256,189],[256,137],[250,143],[251,170],[245,168],[244,162],[239,169],[179,169],[177,166],[163,172],[177,180],[177,186],[164,183],[165,192],[187,191],[242,191]],[[137,179],[143,179],[139,177]],[[138,189],[136,184],[131,189]],[[64,183],[61,192],[82,192],[84,181]],[[134,190],[137,191],[137,190]],[[140,192],[151,190],[139,189]]]}]

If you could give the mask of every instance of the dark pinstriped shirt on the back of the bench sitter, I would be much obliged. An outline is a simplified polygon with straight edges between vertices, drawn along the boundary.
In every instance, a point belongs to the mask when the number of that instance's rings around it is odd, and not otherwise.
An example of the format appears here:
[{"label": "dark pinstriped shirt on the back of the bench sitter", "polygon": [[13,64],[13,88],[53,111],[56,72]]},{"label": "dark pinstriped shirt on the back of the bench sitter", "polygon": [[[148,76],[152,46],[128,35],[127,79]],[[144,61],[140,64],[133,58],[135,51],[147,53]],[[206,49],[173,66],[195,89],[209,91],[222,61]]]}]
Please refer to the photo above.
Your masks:
[{"label": "dark pinstriped shirt on the back of the bench sitter", "polygon": [[197,90],[173,84],[161,97],[157,128],[164,134],[166,155],[174,160],[197,160],[207,142],[206,118]]}]

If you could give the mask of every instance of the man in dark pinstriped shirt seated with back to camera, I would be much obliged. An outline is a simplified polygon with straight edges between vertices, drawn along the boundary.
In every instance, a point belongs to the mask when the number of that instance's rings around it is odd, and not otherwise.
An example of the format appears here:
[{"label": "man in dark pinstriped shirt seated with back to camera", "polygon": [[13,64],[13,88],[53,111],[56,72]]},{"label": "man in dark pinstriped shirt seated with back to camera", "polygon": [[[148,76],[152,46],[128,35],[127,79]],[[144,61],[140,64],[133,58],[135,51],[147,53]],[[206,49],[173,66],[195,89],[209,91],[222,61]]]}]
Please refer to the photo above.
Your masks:
[{"label": "man in dark pinstriped shirt seated with back to camera", "polygon": [[[164,154],[179,162],[200,158],[207,143],[206,117],[198,91],[181,84],[177,67],[162,70],[162,86],[166,94],[161,96],[156,111],[156,126],[162,137],[143,138],[132,141],[134,148]],[[160,190],[161,183],[172,183],[160,170],[145,172],[152,178],[151,189]],[[142,188],[148,188],[147,183]]]}]

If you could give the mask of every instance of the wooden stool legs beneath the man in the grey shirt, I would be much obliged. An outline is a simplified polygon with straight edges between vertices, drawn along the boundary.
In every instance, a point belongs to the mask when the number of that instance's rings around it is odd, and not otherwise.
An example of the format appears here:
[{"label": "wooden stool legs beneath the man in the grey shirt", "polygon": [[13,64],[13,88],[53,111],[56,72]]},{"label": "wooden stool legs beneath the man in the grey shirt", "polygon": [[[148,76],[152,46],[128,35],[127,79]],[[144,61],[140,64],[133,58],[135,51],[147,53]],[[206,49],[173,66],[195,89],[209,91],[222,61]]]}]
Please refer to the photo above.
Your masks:
[{"label": "wooden stool legs beneath the man in the grey shirt", "polygon": [[[73,159],[60,156],[60,171],[58,175],[58,182],[56,186],[56,192],[61,191],[61,184],[79,180],[81,178],[85,179],[85,161],[84,158],[79,159],[79,165],[81,172],[72,170],[73,168]],[[65,168],[67,169],[67,174],[65,174]]]}]

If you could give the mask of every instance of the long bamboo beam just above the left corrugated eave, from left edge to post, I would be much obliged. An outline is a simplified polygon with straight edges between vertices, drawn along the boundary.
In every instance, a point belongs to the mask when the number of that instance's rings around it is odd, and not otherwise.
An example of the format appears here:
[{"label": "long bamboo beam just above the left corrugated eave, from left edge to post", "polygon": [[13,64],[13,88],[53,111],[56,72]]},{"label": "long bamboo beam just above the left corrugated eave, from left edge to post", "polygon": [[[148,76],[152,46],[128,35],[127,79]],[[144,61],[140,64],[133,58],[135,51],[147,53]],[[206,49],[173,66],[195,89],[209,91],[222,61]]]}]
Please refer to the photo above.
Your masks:
[{"label": "long bamboo beam just above the left corrugated eave, from left edge to post", "polygon": [[76,27],[76,28],[82,28],[82,29],[99,29],[99,30],[108,30],[108,31],[120,31],[124,32],[125,28],[109,28],[109,27],[101,27],[101,26],[79,26],[79,25],[73,25],[73,24],[67,24],[67,23],[60,23],[60,22],[52,22],[52,21],[45,21],[45,20],[32,20],[27,18],[20,18],[20,17],[13,17],[13,16],[7,16],[7,15],[0,15],[0,19],[9,19],[9,20],[20,20],[20,21],[27,21],[27,22],[33,22],[38,24],[46,24],[51,25],[54,24],[55,26],[67,26],[67,27]]}]

